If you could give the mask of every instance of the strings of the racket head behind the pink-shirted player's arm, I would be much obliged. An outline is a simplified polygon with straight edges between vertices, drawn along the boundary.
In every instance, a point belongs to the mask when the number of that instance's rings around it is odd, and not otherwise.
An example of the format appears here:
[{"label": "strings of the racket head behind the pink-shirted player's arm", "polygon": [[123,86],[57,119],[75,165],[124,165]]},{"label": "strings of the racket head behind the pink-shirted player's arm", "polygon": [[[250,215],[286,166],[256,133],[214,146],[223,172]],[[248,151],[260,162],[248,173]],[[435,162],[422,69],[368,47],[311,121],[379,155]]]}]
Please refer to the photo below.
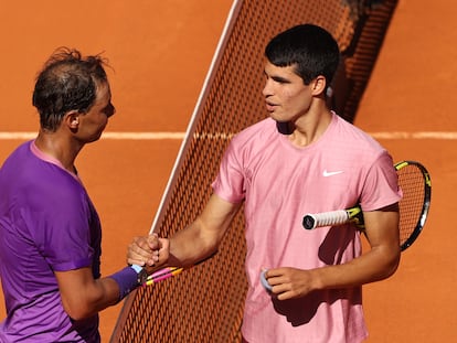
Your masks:
[{"label": "strings of the racket head behind the pink-shirted player's arm", "polygon": [[425,202],[424,174],[414,164],[407,164],[398,171],[398,184],[403,191],[400,201],[400,244],[403,245],[421,225]]}]

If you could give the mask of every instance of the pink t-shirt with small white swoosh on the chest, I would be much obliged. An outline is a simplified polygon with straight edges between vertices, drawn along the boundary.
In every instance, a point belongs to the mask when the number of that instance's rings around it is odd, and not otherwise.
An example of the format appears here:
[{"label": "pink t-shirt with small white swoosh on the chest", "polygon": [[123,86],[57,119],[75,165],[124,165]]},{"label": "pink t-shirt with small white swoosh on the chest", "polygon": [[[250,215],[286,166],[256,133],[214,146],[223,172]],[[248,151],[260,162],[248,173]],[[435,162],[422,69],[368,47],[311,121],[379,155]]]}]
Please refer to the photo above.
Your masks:
[{"label": "pink t-shirt with small white swoosh on the chest", "polygon": [[360,203],[373,211],[397,202],[392,158],[375,140],[333,114],[323,136],[297,148],[265,119],[236,135],[213,183],[217,196],[244,201],[248,291],[243,336],[249,343],[360,342],[366,337],[361,288],[323,290],[278,301],[263,288],[263,268],[312,269],[361,254],[352,226],[305,231],[306,213]]}]

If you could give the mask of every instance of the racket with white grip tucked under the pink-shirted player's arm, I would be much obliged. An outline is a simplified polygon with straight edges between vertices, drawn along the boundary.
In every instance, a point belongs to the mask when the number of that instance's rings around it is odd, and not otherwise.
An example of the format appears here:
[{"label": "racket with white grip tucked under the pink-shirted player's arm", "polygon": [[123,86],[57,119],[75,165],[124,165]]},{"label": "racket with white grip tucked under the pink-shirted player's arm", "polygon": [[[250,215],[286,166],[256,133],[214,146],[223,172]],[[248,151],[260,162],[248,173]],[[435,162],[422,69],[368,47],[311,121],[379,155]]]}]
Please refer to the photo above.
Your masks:
[{"label": "racket with white grip tucked under the pink-shirted player's arm", "polygon": [[[403,191],[400,201],[400,246],[402,251],[408,248],[424,228],[432,200],[432,181],[428,171],[416,161],[402,161],[395,164],[398,184]],[[363,213],[360,206],[348,210],[306,214],[302,226],[306,229],[354,223],[364,228]]]}]

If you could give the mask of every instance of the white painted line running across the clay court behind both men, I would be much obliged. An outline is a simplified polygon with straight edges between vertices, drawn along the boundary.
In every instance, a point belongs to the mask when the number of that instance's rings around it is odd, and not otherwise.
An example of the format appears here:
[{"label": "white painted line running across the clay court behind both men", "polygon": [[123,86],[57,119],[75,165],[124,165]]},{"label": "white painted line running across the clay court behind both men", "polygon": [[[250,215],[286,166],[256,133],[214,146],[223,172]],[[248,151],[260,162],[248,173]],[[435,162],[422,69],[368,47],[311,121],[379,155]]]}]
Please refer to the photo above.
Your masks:
[{"label": "white painted line running across the clay court behind both men", "polygon": [[[457,140],[457,132],[449,131],[417,131],[417,132],[368,132],[375,139],[437,139],[437,140]],[[201,139],[230,139],[233,133],[196,133]],[[0,140],[26,140],[36,137],[36,132],[1,132]],[[185,132],[104,132],[102,139],[111,140],[182,140]]]}]

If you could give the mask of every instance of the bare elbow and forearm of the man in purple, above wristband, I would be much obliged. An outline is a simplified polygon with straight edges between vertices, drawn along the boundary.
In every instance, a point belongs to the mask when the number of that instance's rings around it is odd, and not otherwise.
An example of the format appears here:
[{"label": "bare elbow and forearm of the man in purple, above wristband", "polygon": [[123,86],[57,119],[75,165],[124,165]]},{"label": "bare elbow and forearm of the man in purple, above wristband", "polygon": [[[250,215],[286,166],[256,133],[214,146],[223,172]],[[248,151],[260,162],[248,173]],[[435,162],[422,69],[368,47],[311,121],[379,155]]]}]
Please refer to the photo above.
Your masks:
[{"label": "bare elbow and forearm of the man in purple, above wristband", "polygon": [[56,271],[62,304],[74,320],[82,320],[119,301],[119,287],[111,278],[95,280],[91,267]]}]

